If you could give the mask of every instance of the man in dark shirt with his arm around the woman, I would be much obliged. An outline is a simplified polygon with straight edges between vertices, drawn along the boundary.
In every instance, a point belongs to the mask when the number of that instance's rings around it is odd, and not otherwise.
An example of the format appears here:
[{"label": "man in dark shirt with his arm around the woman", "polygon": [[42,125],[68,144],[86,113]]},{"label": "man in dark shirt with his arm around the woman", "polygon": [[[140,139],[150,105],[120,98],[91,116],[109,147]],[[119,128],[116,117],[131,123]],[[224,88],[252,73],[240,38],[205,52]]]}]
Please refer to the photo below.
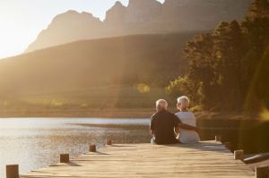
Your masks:
[{"label": "man in dark shirt with his arm around the woman", "polygon": [[175,114],[167,110],[168,103],[164,99],[156,101],[157,113],[152,115],[151,133],[152,143],[156,144],[175,144],[179,128],[197,131],[196,127],[181,123]]}]

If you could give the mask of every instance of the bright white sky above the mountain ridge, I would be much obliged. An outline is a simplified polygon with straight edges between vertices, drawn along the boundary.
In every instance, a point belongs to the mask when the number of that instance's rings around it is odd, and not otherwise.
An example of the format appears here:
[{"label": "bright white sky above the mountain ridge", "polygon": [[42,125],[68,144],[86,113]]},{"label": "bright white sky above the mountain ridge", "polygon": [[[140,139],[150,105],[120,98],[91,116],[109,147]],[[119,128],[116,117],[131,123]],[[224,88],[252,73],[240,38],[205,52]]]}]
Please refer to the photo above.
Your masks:
[{"label": "bright white sky above the mountain ridge", "polygon": [[[68,10],[85,11],[103,20],[106,11],[116,1],[0,0],[0,58],[22,53],[58,13]],[[118,1],[124,5],[129,2]]]}]

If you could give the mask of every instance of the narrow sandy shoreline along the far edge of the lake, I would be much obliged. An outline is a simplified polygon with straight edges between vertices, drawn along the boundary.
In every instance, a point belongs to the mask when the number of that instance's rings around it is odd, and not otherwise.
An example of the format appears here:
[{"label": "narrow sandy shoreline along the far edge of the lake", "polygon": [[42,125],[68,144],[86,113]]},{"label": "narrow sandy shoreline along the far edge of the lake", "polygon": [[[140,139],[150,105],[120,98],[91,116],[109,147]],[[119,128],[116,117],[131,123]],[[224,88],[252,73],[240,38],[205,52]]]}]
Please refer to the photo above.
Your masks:
[{"label": "narrow sandy shoreline along the far edge of the lake", "polygon": [[[176,113],[176,109],[169,110]],[[97,117],[97,118],[150,118],[156,110],[154,108],[108,108],[108,109],[9,109],[0,110],[0,118],[13,117]],[[245,120],[254,119],[246,115],[230,112],[195,112],[197,119],[231,119]]]}]

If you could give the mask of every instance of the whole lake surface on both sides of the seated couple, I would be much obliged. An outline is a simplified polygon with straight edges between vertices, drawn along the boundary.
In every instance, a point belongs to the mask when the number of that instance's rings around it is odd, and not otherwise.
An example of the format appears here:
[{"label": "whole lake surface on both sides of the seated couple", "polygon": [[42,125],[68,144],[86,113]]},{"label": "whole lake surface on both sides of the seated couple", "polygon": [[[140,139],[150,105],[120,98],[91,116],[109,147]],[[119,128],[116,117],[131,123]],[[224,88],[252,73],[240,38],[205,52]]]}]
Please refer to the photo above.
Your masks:
[{"label": "whole lake surface on both sides of the seated couple", "polygon": [[[5,165],[20,165],[27,173],[59,162],[59,155],[77,157],[95,143],[143,143],[151,140],[150,119],[9,118],[0,119],[0,177]],[[269,123],[257,120],[198,120],[202,140],[220,134],[232,150],[246,154],[269,152]]]}]

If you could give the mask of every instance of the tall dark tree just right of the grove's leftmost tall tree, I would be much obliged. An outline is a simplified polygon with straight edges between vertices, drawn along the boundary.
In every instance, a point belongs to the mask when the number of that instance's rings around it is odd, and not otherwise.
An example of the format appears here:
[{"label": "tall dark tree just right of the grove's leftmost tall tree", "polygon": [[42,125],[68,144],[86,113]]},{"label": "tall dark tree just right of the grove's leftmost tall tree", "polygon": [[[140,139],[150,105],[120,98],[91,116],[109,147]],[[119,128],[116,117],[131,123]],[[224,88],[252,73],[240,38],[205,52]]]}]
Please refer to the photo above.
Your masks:
[{"label": "tall dark tree just right of the grove's leftmost tall tree", "polygon": [[[238,21],[221,22],[213,32],[215,53],[215,79],[219,84],[218,95],[221,101],[234,100],[221,106],[225,109],[234,109],[243,101],[242,94],[242,57],[246,53],[243,31]],[[226,106],[225,106],[226,105]]]}]

